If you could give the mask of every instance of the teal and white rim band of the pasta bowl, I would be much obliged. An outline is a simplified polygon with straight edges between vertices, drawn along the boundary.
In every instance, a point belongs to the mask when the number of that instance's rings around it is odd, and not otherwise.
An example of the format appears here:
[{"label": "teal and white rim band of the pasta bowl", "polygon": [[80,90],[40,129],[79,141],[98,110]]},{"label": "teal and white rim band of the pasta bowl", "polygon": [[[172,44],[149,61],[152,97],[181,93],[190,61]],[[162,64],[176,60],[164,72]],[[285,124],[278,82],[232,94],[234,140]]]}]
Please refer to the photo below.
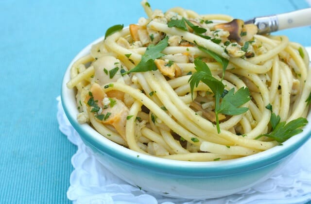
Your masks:
[{"label": "teal and white rim band of the pasta bowl", "polygon": [[[129,166],[137,167],[139,169],[151,170],[157,173],[172,174],[175,176],[224,176],[257,170],[279,162],[294,153],[311,137],[311,122],[309,122],[304,127],[304,131],[302,133],[291,137],[287,141],[283,142],[282,145],[242,158],[211,162],[164,159],[138,153],[125,148],[102,136],[90,125],[78,123],[76,120],[78,109],[75,102],[75,93],[73,89],[68,89],[66,86],[66,83],[70,78],[69,71],[73,62],[89,53],[91,45],[98,43],[101,40],[104,40],[104,36],[86,46],[69,64],[63,76],[61,86],[61,102],[67,118],[82,139],[91,144],[93,148],[96,148],[102,153],[108,154],[120,162],[127,163]],[[308,114],[307,119],[308,121],[311,121],[311,113]]]}]

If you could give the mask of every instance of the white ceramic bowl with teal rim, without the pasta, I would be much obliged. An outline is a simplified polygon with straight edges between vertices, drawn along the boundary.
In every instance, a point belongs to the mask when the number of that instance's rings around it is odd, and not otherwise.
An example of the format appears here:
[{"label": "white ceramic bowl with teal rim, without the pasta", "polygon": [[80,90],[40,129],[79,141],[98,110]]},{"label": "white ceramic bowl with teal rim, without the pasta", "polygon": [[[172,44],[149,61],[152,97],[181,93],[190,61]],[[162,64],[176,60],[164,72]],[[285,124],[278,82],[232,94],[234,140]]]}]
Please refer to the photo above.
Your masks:
[{"label": "white ceramic bowl with teal rim, without the pasta", "polygon": [[[86,146],[97,159],[109,164],[109,170],[133,186],[157,194],[205,199],[237,193],[268,179],[282,168],[311,136],[311,122],[304,131],[291,137],[282,146],[254,155],[213,162],[188,162],[162,159],[134,152],[100,135],[88,124],[79,124],[75,91],[68,89],[69,70],[74,61],[89,53],[86,46],[70,63],[63,78],[61,99],[65,113]],[[311,114],[307,118],[311,121]]]}]

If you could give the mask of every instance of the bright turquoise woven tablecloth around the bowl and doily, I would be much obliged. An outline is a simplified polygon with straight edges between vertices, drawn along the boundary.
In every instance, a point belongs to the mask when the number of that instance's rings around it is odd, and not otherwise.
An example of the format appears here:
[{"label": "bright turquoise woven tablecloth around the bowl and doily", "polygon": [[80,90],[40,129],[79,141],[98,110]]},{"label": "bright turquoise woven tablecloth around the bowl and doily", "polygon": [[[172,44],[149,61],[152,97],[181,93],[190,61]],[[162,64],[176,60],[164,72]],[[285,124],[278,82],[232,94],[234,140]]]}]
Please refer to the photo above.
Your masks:
[{"label": "bright turquoise woven tablecloth around the bowl and doily", "polygon": [[[145,17],[140,1],[0,0],[0,203],[70,203],[76,147],[58,130],[56,97],[71,59],[115,24]],[[307,0],[150,0],[199,14],[249,19],[310,6]],[[311,27],[278,32],[311,46]]]}]

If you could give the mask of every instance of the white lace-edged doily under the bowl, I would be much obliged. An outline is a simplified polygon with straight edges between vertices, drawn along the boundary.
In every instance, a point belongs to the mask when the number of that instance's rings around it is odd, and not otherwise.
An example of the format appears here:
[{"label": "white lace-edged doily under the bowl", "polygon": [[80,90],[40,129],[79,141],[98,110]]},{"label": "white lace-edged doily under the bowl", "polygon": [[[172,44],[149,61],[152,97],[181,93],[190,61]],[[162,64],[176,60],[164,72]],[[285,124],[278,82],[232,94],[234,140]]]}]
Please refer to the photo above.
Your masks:
[{"label": "white lace-edged doily under the bowl", "polygon": [[293,159],[271,178],[243,192],[230,196],[189,200],[167,198],[140,190],[122,181],[105,165],[97,161],[93,152],[82,142],[67,119],[60,97],[57,119],[59,129],[78,151],[72,156],[74,167],[70,175],[69,200],[77,204],[303,204],[311,200],[311,139]]}]

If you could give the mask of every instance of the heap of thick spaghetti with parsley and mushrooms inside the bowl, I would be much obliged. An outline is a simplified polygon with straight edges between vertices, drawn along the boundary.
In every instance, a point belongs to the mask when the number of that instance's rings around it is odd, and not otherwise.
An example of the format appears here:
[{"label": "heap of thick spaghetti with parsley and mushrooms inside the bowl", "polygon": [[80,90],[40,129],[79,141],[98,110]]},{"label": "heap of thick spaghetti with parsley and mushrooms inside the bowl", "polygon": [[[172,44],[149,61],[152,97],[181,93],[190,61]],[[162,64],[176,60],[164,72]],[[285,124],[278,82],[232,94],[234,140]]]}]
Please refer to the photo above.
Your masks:
[{"label": "heap of thick spaghetti with parsley and mushrooms inside the bowl", "polygon": [[109,28],[71,67],[77,120],[139,153],[218,161],[270,149],[302,131],[309,56],[286,36],[183,8]]}]

